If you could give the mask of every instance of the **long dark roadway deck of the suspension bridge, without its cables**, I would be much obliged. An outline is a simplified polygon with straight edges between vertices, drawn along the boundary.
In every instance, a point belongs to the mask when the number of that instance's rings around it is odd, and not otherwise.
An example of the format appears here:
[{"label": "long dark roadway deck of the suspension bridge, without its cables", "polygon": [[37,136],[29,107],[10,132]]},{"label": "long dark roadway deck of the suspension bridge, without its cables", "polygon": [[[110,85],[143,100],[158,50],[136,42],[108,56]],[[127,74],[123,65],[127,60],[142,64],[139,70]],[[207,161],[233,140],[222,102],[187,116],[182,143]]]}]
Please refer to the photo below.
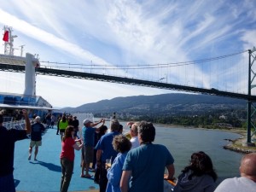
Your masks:
[{"label": "long dark roadway deck of the suspension bridge, without its cables", "polygon": [[[0,71],[25,73],[25,66],[0,63]],[[188,91],[188,92],[202,93],[202,94],[208,94],[213,96],[227,96],[227,97],[247,100],[248,102],[256,102],[256,96],[249,96],[249,95],[240,94],[240,93],[232,93],[232,92],[226,92],[226,91],[216,90],[216,89],[190,87],[190,86],[178,85],[178,84],[166,84],[166,83],[147,81],[147,80],[141,80],[141,79],[114,77],[114,76],[109,76],[104,74],[73,72],[73,71],[44,68],[44,67],[36,68],[36,73],[39,75],[49,75],[49,76],[57,76],[57,77],[64,77],[64,78],[88,79],[88,80],[105,81],[105,82],[111,82],[111,83],[117,83],[117,84],[147,86],[147,87],[153,87],[153,88],[159,88],[159,89],[165,89],[165,90]]]}]

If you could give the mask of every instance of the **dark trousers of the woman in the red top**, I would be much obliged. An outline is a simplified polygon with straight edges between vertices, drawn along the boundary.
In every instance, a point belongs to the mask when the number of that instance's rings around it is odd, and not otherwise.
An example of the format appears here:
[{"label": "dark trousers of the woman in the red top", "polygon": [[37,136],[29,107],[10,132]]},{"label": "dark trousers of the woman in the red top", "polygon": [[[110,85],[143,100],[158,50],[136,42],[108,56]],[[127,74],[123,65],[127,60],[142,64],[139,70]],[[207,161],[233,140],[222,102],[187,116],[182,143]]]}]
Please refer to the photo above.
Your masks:
[{"label": "dark trousers of the woman in the red top", "polygon": [[61,158],[61,172],[61,192],[67,192],[73,174],[73,161]]}]

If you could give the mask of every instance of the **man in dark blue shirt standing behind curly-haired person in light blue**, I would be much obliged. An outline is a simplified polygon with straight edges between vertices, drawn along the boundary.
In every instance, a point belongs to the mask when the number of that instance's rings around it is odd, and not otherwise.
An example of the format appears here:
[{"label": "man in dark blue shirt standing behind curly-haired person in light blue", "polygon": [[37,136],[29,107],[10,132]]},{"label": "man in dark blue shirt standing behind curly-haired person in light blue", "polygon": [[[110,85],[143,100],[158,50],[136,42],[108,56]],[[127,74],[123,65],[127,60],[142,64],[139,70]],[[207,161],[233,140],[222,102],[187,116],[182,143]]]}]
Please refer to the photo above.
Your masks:
[{"label": "man in dark blue shirt standing behind curly-haired person in light blue", "polygon": [[106,170],[106,160],[111,159],[112,162],[114,158],[117,156],[118,152],[113,149],[113,137],[119,135],[119,121],[117,119],[113,119],[111,122],[111,132],[105,134],[101,137],[99,142],[96,144],[96,164],[99,169],[101,169],[100,173],[100,192],[106,192],[108,177]]}]

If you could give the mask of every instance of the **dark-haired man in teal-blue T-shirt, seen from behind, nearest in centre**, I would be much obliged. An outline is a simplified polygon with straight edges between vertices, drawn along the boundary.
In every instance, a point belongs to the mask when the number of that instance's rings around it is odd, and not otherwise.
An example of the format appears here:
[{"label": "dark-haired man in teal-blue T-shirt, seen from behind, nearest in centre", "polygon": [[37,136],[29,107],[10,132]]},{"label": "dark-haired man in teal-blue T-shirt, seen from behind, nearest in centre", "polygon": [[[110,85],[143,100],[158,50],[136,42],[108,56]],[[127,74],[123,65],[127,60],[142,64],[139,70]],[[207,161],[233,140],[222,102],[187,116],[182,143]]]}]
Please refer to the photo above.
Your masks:
[{"label": "dark-haired man in teal-blue T-shirt, seen from behind, nearest in centre", "polygon": [[173,179],[175,169],[172,154],[165,146],[153,144],[154,136],[154,125],[142,121],[138,126],[140,146],[128,152],[123,166],[120,181],[122,192],[163,192],[166,168],[168,173],[165,178]]}]

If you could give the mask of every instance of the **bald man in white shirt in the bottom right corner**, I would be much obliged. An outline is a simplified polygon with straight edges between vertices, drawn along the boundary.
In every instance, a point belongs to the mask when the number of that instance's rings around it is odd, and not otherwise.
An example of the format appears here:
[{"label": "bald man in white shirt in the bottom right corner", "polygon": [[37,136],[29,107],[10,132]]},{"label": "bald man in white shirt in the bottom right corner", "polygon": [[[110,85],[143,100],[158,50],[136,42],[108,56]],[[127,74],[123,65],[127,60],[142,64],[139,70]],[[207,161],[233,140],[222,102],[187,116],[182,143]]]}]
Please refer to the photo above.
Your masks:
[{"label": "bald man in white shirt in the bottom right corner", "polygon": [[246,154],[239,167],[241,177],[227,178],[214,192],[255,192],[256,191],[256,153]]}]

